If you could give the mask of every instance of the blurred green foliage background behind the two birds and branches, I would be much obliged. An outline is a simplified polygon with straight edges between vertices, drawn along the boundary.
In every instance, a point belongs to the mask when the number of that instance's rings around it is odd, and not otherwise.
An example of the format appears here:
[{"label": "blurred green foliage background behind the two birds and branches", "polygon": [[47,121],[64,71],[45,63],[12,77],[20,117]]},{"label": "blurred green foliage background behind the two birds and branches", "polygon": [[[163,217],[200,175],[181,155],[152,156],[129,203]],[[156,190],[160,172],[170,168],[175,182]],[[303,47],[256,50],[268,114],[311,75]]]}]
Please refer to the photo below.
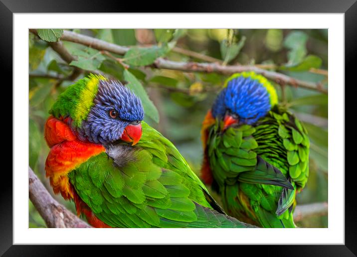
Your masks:
[{"label": "blurred green foliage background behind the two birds and branches", "polygon": [[[44,171],[49,148],[43,137],[43,126],[58,94],[73,83],[71,75],[75,74],[76,68],[84,72],[75,80],[92,71],[125,83],[143,85],[154,104],[145,110],[145,121],[177,146],[197,175],[202,160],[201,123],[227,75],[157,69],[151,65],[155,58],[161,56],[179,62],[254,65],[300,80],[319,82],[321,90],[327,90],[328,87],[327,29],[70,30],[133,49],[120,56],[61,40],[68,52],[77,58],[68,64],[47,42],[52,40],[51,37],[55,41],[63,30],[55,29],[53,34],[46,29],[38,30],[39,36],[29,33],[29,166],[52,195]],[[128,78],[128,73],[125,74],[124,67],[129,68],[127,71],[134,75],[132,78]],[[272,82],[280,102],[301,119],[311,139],[310,177],[304,190],[297,196],[298,205],[327,202],[328,96],[321,90],[290,85],[282,87],[276,81]],[[144,94],[140,95],[142,99],[146,98]],[[157,123],[159,117],[160,122]],[[220,201],[217,194],[212,194]],[[75,212],[72,202],[64,201],[60,195],[54,195],[54,198]],[[328,218],[326,215],[310,216],[297,222],[297,225],[326,228]],[[45,227],[30,201],[29,227]]]}]

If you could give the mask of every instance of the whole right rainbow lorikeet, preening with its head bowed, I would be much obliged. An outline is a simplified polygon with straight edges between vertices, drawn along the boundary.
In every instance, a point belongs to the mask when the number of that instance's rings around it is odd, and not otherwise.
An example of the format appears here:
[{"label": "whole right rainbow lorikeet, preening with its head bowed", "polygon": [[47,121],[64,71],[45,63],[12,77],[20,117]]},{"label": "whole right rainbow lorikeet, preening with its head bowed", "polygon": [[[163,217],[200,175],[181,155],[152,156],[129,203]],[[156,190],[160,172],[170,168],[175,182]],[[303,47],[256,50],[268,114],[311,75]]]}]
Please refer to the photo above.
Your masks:
[{"label": "whole right rainbow lorikeet, preening with its head bowed", "polygon": [[228,215],[264,228],[295,228],[295,195],[309,176],[306,129],[254,72],[229,77],[203,122],[202,180]]}]

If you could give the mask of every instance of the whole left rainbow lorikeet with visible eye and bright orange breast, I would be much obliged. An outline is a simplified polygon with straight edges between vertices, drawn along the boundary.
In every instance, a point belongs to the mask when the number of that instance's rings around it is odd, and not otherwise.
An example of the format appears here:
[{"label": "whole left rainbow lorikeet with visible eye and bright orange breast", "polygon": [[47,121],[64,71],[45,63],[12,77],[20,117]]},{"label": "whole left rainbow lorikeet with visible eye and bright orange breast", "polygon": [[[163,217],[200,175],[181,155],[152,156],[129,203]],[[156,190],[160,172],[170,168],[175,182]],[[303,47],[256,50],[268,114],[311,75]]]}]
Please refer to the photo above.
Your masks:
[{"label": "whole left rainbow lorikeet with visible eye and bright orange breast", "polygon": [[98,228],[246,228],[209,195],[142,103],[103,76],[59,95],[45,124],[46,176]]}]

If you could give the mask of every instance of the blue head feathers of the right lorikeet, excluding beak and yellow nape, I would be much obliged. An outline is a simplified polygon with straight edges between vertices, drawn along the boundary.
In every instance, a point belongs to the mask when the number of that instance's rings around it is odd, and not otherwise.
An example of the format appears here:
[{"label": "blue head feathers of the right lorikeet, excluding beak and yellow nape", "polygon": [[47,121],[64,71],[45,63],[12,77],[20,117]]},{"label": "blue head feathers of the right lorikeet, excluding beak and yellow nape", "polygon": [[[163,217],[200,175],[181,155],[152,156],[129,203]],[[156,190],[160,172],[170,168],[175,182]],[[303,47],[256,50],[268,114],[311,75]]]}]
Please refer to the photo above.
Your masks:
[{"label": "blue head feathers of the right lorikeet, excluding beak and yellow nape", "polygon": [[271,109],[269,93],[257,80],[243,76],[232,79],[217,96],[212,116],[223,118],[228,111],[240,123],[254,124]]}]

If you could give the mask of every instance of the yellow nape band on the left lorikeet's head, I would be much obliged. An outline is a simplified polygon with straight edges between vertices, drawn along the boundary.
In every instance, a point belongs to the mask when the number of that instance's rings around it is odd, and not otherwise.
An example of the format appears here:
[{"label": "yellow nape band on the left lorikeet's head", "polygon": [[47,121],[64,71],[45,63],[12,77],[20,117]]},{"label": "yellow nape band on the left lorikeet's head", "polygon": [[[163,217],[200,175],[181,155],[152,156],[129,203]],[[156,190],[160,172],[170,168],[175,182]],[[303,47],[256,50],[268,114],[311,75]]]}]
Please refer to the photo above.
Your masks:
[{"label": "yellow nape band on the left lorikeet's head", "polygon": [[87,118],[90,109],[94,105],[94,98],[98,91],[99,80],[107,80],[102,75],[90,74],[86,79],[86,86],[81,90],[79,101],[76,106],[75,121],[80,126],[82,121]]}]

